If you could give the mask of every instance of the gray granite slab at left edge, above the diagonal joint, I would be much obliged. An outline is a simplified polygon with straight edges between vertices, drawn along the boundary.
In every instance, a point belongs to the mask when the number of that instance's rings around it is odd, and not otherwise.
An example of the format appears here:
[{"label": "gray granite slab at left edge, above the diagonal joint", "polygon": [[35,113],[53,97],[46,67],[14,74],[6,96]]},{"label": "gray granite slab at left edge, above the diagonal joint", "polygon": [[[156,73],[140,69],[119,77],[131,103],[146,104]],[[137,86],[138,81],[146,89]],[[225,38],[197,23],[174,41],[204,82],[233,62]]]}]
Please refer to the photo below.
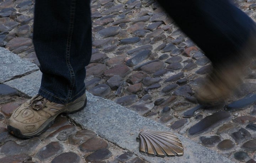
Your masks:
[{"label": "gray granite slab at left edge, above the diagonal joint", "polygon": [[0,82],[6,82],[38,70],[36,64],[21,59],[11,51],[0,47]]}]

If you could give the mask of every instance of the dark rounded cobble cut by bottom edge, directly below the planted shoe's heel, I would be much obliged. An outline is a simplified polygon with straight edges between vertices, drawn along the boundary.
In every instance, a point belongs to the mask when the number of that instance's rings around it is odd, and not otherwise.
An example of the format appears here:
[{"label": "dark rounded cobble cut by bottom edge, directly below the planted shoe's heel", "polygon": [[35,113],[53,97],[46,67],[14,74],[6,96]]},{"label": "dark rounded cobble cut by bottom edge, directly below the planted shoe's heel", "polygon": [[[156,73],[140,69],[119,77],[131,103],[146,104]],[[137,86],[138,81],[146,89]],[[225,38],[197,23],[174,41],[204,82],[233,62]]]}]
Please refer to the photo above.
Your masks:
[{"label": "dark rounded cobble cut by bottom edge, directly below the planted shoe's heel", "polygon": [[62,153],[59,156],[56,156],[51,163],[60,163],[60,162],[72,162],[72,163],[79,163],[80,157],[78,154],[73,152],[66,152]]}]

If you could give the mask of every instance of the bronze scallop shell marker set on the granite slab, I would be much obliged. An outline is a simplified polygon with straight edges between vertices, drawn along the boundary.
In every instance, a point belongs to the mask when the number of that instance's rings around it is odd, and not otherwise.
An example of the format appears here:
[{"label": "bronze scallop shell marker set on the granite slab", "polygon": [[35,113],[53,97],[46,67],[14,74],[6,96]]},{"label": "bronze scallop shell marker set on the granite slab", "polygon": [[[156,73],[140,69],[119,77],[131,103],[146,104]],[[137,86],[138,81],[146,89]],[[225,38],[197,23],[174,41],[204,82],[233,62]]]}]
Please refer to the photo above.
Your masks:
[{"label": "bronze scallop shell marker set on the granite slab", "polygon": [[158,157],[183,155],[181,141],[171,132],[142,131],[139,140],[139,151],[142,153]]}]

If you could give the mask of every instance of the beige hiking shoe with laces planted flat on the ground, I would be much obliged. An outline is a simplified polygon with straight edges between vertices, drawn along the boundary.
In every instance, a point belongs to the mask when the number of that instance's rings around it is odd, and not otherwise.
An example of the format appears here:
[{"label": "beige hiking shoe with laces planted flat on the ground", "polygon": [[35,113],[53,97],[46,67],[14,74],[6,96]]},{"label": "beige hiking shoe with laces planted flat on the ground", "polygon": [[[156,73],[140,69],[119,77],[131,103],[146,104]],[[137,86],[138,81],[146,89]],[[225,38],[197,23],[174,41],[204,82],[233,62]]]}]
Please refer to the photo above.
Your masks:
[{"label": "beige hiking shoe with laces planted flat on the ground", "polygon": [[60,113],[78,112],[86,103],[86,94],[68,104],[57,104],[36,95],[12,113],[7,129],[17,137],[30,138],[47,130]]}]

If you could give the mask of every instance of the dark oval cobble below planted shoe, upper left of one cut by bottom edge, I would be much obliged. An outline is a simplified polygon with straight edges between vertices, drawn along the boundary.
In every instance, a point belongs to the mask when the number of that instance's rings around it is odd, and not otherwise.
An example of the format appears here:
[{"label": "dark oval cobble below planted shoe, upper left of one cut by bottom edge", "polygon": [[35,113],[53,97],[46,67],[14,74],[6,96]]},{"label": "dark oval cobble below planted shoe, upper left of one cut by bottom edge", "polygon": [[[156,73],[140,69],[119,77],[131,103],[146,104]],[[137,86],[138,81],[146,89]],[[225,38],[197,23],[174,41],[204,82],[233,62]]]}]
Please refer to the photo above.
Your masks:
[{"label": "dark oval cobble below planted shoe, upper left of one cut by bottom edge", "polygon": [[63,149],[63,145],[61,145],[59,142],[50,142],[45,147],[41,148],[39,152],[37,152],[36,157],[39,158],[40,161],[45,161],[62,153]]}]

